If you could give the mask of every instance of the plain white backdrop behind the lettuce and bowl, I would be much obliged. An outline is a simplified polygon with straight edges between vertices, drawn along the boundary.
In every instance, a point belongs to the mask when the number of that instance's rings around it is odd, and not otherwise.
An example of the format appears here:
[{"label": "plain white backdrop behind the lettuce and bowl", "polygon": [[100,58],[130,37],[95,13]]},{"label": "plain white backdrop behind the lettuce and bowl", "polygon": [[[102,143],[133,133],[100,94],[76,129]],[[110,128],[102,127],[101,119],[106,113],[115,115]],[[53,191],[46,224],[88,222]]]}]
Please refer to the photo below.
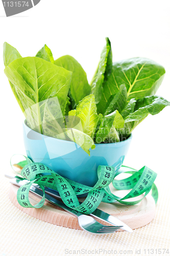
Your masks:
[{"label": "plain white backdrop behind the lettuce and bowl", "polygon": [[[13,154],[25,153],[21,125],[23,114],[4,74],[4,41],[17,48],[23,57],[34,56],[44,44],[51,48],[55,59],[72,55],[81,63],[90,82],[108,36],[113,61],[141,56],[164,66],[166,74],[157,94],[170,101],[169,7],[170,2],[162,0],[41,0],[34,8],[7,18],[1,2],[0,127],[3,172],[10,171],[9,160]],[[169,176],[169,126],[170,107],[156,116],[148,116],[133,132],[133,141],[124,162],[137,169],[147,165],[155,170],[159,174],[158,187],[159,182],[163,182],[161,175],[163,178]]]}]

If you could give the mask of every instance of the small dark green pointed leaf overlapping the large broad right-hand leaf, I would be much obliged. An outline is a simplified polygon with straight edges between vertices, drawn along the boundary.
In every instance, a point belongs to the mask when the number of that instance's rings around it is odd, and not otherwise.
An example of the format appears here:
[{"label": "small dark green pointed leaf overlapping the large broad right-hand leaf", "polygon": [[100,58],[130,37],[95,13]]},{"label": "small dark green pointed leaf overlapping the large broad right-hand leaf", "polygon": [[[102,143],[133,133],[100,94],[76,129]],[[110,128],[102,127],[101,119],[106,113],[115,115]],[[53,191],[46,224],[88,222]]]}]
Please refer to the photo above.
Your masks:
[{"label": "small dark green pointed leaf overlapping the large broad right-hand leaf", "polygon": [[125,84],[121,84],[119,91],[112,95],[109,98],[108,106],[106,105],[107,109],[105,111],[105,116],[109,115],[110,113],[118,110],[119,113],[123,111],[127,104],[127,89]]}]

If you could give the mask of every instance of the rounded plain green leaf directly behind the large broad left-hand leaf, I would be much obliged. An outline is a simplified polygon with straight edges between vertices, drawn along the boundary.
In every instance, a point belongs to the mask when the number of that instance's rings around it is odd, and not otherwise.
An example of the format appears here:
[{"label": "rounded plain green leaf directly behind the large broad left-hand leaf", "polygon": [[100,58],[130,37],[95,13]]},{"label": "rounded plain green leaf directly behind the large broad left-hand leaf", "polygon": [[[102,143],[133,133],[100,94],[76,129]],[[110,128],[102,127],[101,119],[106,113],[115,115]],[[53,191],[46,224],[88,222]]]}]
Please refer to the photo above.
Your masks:
[{"label": "rounded plain green leaf directly behind the large broad left-hand leaf", "polygon": [[72,108],[75,108],[79,101],[87,96],[91,91],[87,81],[87,75],[79,62],[69,55],[56,59],[54,63],[55,65],[72,72],[69,97],[70,100],[72,99],[73,101]]}]

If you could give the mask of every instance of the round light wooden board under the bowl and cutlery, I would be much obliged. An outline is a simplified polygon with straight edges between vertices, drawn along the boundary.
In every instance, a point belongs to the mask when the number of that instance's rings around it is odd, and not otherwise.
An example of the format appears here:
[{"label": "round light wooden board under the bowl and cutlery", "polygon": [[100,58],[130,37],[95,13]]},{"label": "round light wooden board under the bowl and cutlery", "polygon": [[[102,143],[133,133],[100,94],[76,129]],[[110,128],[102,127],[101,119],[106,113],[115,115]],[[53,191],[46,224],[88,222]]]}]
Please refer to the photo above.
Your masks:
[{"label": "round light wooden board under the bowl and cutlery", "polygon": [[[18,187],[11,184],[9,193],[10,199],[17,208],[19,208],[23,212],[26,212],[26,214],[35,217],[39,220],[52,223],[54,225],[81,229],[78,223],[78,219],[76,217],[72,216],[65,210],[62,210],[60,207],[54,206],[46,201],[42,208],[39,209],[24,208],[20,206],[16,198],[17,190]],[[114,194],[117,196],[121,196],[121,194],[122,196],[125,196],[125,190],[119,190],[116,191],[116,193],[114,191]],[[40,197],[32,193],[30,193],[29,196],[30,202],[33,205],[40,201]],[[83,201],[82,198],[79,198],[79,200]],[[155,216],[155,201],[150,194],[137,205],[128,206],[120,203],[107,204],[102,202],[98,208],[123,221],[132,229],[147,225],[153,220]],[[101,222],[102,224],[110,225],[104,221],[98,221]],[[120,229],[120,231],[122,231],[122,229]]]}]

